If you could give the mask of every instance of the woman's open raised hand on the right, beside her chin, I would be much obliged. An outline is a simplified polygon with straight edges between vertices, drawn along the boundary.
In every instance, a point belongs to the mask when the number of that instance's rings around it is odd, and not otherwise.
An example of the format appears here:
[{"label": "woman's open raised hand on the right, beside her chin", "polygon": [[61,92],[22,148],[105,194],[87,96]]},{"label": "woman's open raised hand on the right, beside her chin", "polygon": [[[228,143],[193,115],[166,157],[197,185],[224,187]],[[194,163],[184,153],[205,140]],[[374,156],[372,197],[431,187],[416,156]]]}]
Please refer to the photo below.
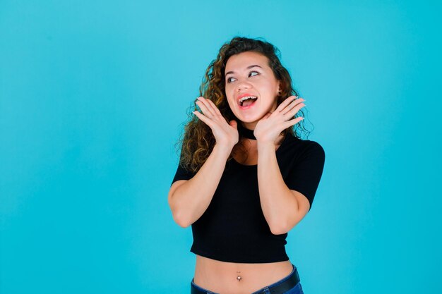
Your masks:
[{"label": "woman's open raised hand on the right, beside her chin", "polygon": [[272,142],[275,144],[282,130],[291,127],[302,121],[304,118],[299,116],[294,119],[293,116],[305,106],[305,100],[297,96],[290,96],[284,100],[273,113],[268,113],[256,123],[253,135],[261,143]]}]

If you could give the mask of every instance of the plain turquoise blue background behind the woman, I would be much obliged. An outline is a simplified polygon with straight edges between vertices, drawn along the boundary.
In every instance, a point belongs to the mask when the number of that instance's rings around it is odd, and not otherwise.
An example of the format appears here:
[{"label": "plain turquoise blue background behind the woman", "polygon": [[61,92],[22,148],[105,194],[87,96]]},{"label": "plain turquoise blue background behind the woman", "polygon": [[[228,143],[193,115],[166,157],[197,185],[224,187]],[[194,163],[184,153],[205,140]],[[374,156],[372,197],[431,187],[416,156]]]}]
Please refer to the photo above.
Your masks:
[{"label": "plain turquoise blue background behind the woman", "polygon": [[[333,2],[333,3],[330,3]],[[441,4],[0,1],[0,292],[188,293],[167,192],[224,42],[264,37],[325,149],[305,293],[441,293]]]}]

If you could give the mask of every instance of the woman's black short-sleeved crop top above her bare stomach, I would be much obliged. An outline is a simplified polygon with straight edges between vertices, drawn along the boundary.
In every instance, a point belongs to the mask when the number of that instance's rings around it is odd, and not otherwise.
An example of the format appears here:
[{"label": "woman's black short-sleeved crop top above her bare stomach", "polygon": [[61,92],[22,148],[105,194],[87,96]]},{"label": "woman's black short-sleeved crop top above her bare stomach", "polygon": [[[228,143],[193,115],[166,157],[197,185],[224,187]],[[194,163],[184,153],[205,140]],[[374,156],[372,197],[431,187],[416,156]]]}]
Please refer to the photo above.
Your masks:
[{"label": "woman's black short-sleeved crop top above her bare stomach", "polygon": [[[301,192],[311,204],[323,173],[325,152],[311,140],[287,134],[276,158],[285,184]],[[213,199],[203,215],[192,223],[196,255],[223,262],[263,263],[289,260],[287,233],[273,235],[265,221],[258,192],[257,165],[227,161]],[[178,166],[172,184],[195,173]],[[171,184],[171,186],[172,186]]]}]

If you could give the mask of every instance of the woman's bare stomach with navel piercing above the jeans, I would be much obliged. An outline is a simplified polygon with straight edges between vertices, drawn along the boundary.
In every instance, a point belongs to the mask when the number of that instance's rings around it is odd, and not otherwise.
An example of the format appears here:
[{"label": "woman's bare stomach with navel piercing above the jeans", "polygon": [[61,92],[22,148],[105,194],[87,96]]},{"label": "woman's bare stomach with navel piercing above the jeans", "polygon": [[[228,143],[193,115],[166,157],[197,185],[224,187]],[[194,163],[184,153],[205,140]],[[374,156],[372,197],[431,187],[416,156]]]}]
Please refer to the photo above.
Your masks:
[{"label": "woman's bare stomach with navel piercing above the jeans", "polygon": [[[288,276],[292,262],[239,264],[196,255],[193,283],[220,294],[251,294]],[[238,278],[241,277],[240,279]]]}]

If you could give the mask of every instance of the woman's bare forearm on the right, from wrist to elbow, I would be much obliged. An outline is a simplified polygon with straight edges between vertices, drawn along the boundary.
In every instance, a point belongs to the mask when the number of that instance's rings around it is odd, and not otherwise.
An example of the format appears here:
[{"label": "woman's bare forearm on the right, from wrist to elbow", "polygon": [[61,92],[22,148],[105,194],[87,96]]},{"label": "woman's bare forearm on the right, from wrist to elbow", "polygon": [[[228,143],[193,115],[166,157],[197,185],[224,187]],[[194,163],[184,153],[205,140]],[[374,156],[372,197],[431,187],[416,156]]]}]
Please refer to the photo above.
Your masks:
[{"label": "woman's bare forearm on the right, from wrist to elbow", "polygon": [[285,233],[289,219],[298,212],[298,202],[282,179],[273,143],[258,142],[258,188],[270,230],[274,234]]}]

